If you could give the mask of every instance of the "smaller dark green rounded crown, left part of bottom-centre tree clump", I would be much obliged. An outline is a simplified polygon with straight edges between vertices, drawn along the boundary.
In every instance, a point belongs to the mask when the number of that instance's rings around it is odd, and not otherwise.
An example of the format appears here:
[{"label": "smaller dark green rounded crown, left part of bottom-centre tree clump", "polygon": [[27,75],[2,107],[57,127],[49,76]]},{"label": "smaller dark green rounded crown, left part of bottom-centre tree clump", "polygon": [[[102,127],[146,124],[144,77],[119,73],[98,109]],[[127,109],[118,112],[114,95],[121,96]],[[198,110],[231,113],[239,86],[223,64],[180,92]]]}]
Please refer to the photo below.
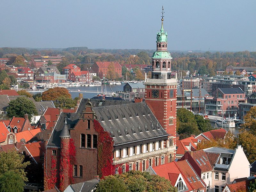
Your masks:
[{"label": "smaller dark green rounded crown, left part of bottom-centre tree clump", "polygon": [[115,176],[109,175],[104,180],[100,180],[94,192],[130,192],[124,182],[118,180]]}]

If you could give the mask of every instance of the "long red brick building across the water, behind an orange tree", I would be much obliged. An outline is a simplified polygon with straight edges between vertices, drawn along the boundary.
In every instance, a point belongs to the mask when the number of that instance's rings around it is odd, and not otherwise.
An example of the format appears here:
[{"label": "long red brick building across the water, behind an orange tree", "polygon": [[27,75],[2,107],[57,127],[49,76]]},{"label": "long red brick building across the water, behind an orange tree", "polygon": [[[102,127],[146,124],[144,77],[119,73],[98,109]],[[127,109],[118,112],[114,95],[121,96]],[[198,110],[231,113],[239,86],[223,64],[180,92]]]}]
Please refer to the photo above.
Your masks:
[{"label": "long red brick building across the water, behind an orange tree", "polygon": [[99,76],[101,79],[108,78],[108,66],[113,64],[118,77],[122,77],[122,66],[117,61],[96,61],[92,65],[92,70]]}]

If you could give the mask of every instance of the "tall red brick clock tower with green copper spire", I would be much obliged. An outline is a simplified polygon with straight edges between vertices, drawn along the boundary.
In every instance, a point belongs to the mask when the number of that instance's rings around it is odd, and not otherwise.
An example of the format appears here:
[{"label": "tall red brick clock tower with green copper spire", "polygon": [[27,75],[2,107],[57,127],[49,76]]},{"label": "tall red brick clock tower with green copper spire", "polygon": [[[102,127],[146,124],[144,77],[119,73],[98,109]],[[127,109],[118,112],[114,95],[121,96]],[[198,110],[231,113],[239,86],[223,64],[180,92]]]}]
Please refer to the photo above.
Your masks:
[{"label": "tall red brick clock tower with green copper spire", "polygon": [[156,35],[156,52],[152,56],[152,76],[145,78],[145,102],[166,132],[169,144],[176,145],[176,95],[177,73],[171,71],[171,53],[167,51],[167,32],[164,31],[164,8],[162,25]]}]

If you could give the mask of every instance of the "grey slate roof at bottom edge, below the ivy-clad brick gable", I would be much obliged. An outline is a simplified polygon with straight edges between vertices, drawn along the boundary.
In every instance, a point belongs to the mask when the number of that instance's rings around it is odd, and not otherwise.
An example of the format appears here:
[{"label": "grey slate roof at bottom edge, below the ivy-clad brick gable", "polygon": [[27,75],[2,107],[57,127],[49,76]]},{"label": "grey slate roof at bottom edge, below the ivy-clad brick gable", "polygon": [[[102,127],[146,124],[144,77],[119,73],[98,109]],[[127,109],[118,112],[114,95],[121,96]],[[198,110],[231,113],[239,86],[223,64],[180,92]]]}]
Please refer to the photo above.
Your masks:
[{"label": "grey slate roof at bottom edge, below the ivy-clad brick gable", "polygon": [[99,183],[98,180],[92,179],[81,183],[69,185],[74,192],[91,192]]}]

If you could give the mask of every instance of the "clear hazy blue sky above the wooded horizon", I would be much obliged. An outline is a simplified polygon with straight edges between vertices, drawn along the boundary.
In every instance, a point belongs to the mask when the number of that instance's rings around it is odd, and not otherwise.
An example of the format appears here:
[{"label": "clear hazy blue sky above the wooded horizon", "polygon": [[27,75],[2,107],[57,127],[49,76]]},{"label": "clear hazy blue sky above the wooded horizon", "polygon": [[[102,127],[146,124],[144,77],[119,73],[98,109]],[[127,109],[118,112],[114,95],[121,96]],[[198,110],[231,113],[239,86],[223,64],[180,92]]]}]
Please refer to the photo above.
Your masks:
[{"label": "clear hazy blue sky above the wooded horizon", "polygon": [[1,0],[0,47],[254,51],[256,1]]}]

